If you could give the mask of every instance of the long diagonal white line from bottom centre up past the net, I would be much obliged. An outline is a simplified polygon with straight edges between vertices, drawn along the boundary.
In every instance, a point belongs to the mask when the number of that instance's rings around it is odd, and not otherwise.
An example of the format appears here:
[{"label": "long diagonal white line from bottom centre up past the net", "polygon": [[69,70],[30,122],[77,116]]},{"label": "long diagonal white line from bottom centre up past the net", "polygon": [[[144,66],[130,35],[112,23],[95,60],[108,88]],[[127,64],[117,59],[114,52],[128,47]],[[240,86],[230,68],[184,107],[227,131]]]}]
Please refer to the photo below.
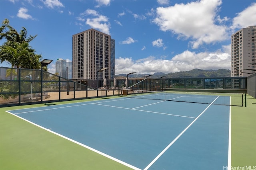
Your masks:
[{"label": "long diagonal white line from bottom centre up past the net", "polygon": [[[215,100],[217,100],[217,98]],[[204,111],[202,113],[200,113],[200,115],[198,115],[198,117],[196,117],[196,119],[194,119],[194,121],[192,121],[164,150],[162,150],[162,152],[160,152],[160,154],[158,154],[158,156],[156,156],[156,158],[154,158],[154,160],[152,160],[152,162],[150,162],[150,164],[148,164],[148,166],[146,166],[146,168],[144,168],[144,170],[148,170],[148,168],[150,168],[150,166],[152,166],[152,164],[154,164],[156,162],[156,160],[158,160],[158,158],[160,158],[160,156],[162,156],[162,154],[164,154],[164,152],[167,149],[169,149],[172,146],[172,144],[174,144],[174,142],[176,142],[180,138],[180,136],[212,105],[212,103],[208,107],[206,107],[206,109],[204,109]]]}]

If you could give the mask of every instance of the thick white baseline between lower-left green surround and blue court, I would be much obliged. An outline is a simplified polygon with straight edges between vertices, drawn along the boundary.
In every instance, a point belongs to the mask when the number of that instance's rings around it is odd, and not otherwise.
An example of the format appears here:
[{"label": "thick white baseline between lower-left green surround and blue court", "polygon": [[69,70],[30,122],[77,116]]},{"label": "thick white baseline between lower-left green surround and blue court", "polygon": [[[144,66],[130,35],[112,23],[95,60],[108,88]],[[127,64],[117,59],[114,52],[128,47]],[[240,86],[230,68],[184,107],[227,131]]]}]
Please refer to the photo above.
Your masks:
[{"label": "thick white baseline between lower-left green surround and blue court", "polygon": [[20,119],[23,119],[24,121],[27,121],[27,122],[29,122],[29,123],[31,123],[31,124],[37,126],[37,127],[40,127],[40,128],[42,128],[42,129],[44,129],[44,130],[50,132],[50,133],[53,133],[53,134],[55,134],[55,135],[58,135],[58,136],[60,136],[60,137],[62,137],[62,138],[64,138],[64,139],[67,139],[67,140],[69,140],[69,141],[71,141],[71,142],[73,142],[73,143],[76,143],[76,144],[78,144],[78,145],[80,145],[80,146],[82,146],[82,147],[85,147],[85,148],[87,148],[87,149],[90,149],[90,150],[92,150],[93,152],[96,152],[96,153],[98,153],[98,154],[101,154],[102,156],[105,156],[105,157],[110,158],[110,159],[112,159],[112,160],[114,160],[114,161],[116,161],[116,162],[119,162],[120,164],[123,164],[123,165],[125,165],[125,166],[128,166],[129,168],[132,168],[132,169],[134,169],[134,170],[141,170],[140,168],[137,168],[137,167],[132,166],[132,165],[126,163],[126,162],[123,162],[122,160],[119,160],[119,159],[114,158],[114,157],[112,157],[112,156],[110,156],[110,155],[108,155],[108,154],[105,154],[105,153],[103,153],[103,152],[100,152],[99,150],[93,149],[93,148],[91,148],[91,147],[89,147],[89,146],[87,146],[87,145],[84,145],[84,144],[82,144],[82,143],[79,143],[79,142],[77,142],[77,141],[75,141],[75,140],[73,140],[73,139],[70,139],[70,138],[68,138],[68,137],[66,137],[66,136],[64,136],[64,135],[61,135],[61,134],[56,133],[56,132],[54,132],[54,131],[51,131],[51,129],[46,129],[45,127],[42,127],[42,126],[40,126],[40,125],[38,125],[38,124],[36,124],[36,123],[33,123],[32,121],[29,121],[29,120],[27,120],[27,119],[24,119],[24,118],[22,118],[22,117],[20,117],[20,116],[18,116],[18,115],[16,115],[16,114],[13,114],[13,113],[11,113],[11,112],[9,112],[9,111],[6,111],[6,112],[8,112],[8,113],[10,113],[10,114],[12,114],[12,115],[14,115],[14,116],[16,116],[16,117],[19,117]]}]

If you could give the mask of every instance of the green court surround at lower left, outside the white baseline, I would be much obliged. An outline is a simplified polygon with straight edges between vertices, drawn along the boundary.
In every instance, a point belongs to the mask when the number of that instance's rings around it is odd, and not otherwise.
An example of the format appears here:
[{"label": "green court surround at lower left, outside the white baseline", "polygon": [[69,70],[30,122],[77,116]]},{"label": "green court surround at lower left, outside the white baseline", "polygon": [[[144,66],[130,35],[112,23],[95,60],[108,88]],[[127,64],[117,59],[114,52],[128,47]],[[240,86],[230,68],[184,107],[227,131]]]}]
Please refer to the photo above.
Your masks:
[{"label": "green court surround at lower left, outside the white baseline", "polygon": [[22,107],[0,108],[0,170],[130,169],[5,112]]}]

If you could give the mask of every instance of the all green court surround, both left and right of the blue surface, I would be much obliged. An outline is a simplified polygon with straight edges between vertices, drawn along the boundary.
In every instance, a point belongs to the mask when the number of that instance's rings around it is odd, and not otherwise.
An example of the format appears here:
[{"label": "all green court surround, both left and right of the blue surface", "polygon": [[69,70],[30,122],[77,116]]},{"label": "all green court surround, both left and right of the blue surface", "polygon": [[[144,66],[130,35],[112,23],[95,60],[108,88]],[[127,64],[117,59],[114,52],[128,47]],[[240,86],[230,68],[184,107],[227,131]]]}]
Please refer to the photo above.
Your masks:
[{"label": "all green court surround, both left and right of the blue surface", "polygon": [[[77,101],[54,104],[70,102]],[[256,165],[256,104],[253,103],[256,103],[256,99],[247,96],[247,107],[231,107],[233,167]],[[0,108],[1,170],[130,169],[5,112],[5,110],[40,106],[46,105]]]}]

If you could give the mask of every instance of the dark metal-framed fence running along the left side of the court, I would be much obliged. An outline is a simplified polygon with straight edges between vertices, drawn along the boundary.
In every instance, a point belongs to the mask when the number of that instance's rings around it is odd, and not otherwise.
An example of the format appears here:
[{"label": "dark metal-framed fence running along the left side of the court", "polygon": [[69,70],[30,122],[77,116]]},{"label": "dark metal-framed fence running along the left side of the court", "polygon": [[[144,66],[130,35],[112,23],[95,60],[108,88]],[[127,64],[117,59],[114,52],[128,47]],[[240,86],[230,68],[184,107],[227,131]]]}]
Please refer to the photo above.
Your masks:
[{"label": "dark metal-framed fence running along the left side of the court", "polygon": [[113,95],[118,90],[95,89],[43,70],[0,67],[0,107]]}]

